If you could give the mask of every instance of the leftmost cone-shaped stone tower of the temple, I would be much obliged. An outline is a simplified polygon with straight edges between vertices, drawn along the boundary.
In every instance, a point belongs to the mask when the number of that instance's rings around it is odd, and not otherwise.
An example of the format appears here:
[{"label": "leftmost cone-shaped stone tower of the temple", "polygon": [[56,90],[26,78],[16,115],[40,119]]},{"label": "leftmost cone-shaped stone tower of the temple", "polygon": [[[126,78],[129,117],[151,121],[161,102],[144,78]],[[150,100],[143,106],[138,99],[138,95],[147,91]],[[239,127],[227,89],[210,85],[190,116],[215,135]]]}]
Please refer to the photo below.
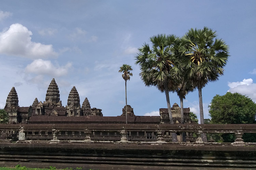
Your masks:
[{"label": "leftmost cone-shaped stone tower of the temple", "polygon": [[19,99],[14,87],[12,87],[9,95],[7,96],[4,109],[9,114],[9,123],[18,122]]}]

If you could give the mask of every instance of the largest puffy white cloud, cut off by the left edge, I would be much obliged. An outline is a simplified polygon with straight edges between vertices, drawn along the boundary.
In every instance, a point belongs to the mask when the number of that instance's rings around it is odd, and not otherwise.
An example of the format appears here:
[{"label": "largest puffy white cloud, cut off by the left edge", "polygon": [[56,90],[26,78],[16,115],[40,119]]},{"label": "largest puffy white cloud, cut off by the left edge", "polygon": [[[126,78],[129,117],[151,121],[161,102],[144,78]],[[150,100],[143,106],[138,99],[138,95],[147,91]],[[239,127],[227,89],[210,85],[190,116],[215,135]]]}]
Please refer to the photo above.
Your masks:
[{"label": "largest puffy white cloud, cut off by the left edge", "polygon": [[46,58],[57,56],[52,45],[31,41],[32,32],[19,23],[12,24],[0,33],[0,53],[26,58]]}]

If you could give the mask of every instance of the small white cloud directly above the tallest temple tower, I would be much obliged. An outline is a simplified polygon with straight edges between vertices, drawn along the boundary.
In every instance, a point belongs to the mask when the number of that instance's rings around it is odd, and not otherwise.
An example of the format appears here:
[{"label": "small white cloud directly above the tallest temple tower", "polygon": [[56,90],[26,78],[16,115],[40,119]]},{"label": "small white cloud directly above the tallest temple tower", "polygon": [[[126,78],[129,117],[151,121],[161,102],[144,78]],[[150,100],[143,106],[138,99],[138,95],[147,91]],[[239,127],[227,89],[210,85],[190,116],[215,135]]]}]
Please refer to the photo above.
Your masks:
[{"label": "small white cloud directly above the tallest temple tower", "polygon": [[45,61],[38,59],[27,65],[25,68],[26,73],[34,74],[46,74],[53,77],[61,77],[68,73],[68,69],[72,66],[72,63],[67,63],[65,66],[53,65],[51,61]]}]

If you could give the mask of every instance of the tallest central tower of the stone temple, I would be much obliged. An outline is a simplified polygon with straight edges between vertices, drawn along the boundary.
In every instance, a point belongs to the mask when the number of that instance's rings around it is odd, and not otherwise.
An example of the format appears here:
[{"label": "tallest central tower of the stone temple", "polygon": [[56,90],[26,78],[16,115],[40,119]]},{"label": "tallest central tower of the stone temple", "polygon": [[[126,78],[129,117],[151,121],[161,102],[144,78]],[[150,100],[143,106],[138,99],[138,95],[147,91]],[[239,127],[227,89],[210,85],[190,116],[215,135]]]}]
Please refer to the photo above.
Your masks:
[{"label": "tallest central tower of the stone temple", "polygon": [[46,103],[51,103],[54,106],[61,106],[60,91],[55,79],[53,78],[46,92]]}]

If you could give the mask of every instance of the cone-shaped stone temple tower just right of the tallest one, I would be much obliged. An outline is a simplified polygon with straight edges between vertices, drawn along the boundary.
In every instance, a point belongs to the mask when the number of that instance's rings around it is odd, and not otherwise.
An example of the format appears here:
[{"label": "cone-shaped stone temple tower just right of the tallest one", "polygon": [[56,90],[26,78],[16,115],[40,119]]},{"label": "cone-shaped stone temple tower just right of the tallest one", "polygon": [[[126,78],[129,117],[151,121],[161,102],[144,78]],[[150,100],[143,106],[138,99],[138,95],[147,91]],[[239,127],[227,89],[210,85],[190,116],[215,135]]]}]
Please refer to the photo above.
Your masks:
[{"label": "cone-shaped stone temple tower just right of the tallest one", "polygon": [[69,92],[66,109],[67,116],[81,116],[80,98],[75,86]]}]

